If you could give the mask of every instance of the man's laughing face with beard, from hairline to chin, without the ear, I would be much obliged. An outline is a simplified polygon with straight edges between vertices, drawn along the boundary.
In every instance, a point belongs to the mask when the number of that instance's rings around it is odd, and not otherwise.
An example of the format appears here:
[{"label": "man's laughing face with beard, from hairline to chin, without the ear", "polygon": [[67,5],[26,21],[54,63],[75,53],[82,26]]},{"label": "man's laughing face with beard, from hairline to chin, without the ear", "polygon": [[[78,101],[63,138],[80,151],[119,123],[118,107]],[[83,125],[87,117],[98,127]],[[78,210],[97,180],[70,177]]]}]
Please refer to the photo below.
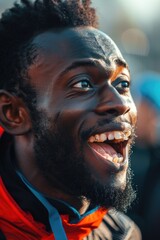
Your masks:
[{"label": "man's laughing face with beard, from hairline to chin, without the ear", "polygon": [[126,176],[136,123],[121,53],[93,28],[46,32],[33,43],[39,53],[28,75],[37,93],[39,168],[54,187],[94,204],[116,205],[116,195],[120,201],[130,188]]}]

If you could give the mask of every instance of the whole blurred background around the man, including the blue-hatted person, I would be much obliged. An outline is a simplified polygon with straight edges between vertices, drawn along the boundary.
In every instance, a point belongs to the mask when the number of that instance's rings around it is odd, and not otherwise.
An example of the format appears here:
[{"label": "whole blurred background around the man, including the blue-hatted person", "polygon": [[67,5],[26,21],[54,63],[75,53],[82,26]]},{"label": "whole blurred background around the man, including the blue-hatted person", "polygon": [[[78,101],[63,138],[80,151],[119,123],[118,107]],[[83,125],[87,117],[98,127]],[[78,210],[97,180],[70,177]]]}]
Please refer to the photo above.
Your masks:
[{"label": "whole blurred background around the man, including the blue-hatted person", "polygon": [[[92,2],[100,29],[115,41],[130,66],[139,115],[131,155],[137,200],[127,214],[143,239],[160,239],[160,0]],[[0,0],[0,13],[13,3]]]}]

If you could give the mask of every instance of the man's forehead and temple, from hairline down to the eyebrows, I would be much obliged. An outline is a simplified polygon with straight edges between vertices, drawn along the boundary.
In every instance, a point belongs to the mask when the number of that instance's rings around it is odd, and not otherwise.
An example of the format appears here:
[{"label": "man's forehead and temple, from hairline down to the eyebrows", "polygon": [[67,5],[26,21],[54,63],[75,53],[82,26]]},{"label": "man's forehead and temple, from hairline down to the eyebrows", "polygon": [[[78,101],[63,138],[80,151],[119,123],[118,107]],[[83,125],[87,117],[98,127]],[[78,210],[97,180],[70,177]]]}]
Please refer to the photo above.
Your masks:
[{"label": "man's forehead and temple, from hairline down to the eyebrows", "polygon": [[46,81],[47,85],[54,84],[71,68],[84,66],[87,62],[96,63],[98,69],[111,72],[116,71],[115,62],[125,66],[115,43],[106,34],[91,27],[44,32],[37,35],[32,43],[37,57],[28,68],[28,76],[30,84],[41,90]]}]

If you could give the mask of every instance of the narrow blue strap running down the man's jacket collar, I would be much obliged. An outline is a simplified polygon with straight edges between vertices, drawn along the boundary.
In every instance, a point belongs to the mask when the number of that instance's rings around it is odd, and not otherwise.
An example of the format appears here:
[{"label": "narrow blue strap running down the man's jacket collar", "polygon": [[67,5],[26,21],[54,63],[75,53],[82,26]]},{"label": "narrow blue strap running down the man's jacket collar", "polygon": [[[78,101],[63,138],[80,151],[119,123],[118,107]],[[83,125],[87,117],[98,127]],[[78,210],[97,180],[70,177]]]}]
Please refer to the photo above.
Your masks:
[{"label": "narrow blue strap running down the man's jacket collar", "polygon": [[49,223],[54,234],[55,240],[67,240],[66,233],[64,231],[62,220],[59,215],[59,212],[55,207],[53,207],[47,199],[38,192],[29,182],[28,180],[19,172],[17,171],[18,176],[21,178],[23,183],[29,188],[29,190],[34,194],[34,196],[43,204],[43,206],[48,211],[49,216]]}]

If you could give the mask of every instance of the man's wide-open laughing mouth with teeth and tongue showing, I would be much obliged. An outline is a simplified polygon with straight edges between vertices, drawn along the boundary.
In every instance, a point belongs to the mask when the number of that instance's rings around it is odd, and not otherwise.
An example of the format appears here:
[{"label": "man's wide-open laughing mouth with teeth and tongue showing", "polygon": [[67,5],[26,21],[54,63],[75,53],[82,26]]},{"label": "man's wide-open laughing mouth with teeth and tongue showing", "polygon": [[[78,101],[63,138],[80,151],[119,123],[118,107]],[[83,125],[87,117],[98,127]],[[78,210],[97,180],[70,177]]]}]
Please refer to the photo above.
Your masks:
[{"label": "man's wide-open laughing mouth with teeth and tongue showing", "polygon": [[122,165],[126,159],[126,146],[131,130],[111,131],[89,137],[88,144],[103,159]]}]

